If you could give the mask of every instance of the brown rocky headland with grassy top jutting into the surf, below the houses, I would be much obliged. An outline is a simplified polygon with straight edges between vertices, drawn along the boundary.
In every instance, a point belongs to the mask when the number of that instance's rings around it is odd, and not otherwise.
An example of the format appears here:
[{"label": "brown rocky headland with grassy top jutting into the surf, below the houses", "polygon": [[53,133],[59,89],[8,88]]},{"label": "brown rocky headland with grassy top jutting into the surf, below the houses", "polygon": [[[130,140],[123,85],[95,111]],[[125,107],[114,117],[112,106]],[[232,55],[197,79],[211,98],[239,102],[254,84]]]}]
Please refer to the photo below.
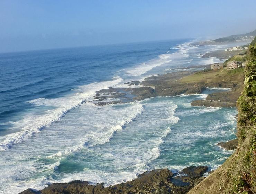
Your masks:
[{"label": "brown rocky headland with grassy top jutting into the surf, below the houses", "polygon": [[[197,77],[198,72],[180,71],[166,73],[145,78],[144,81],[131,81],[124,83],[124,88],[103,89],[96,92],[92,101],[97,106],[109,104],[121,104],[133,101],[140,101],[155,96],[176,96],[180,94],[200,94],[207,87],[223,87],[230,91],[216,92],[209,94],[205,100],[191,102],[193,106],[205,107],[236,107],[236,102],[243,90],[244,78],[238,75],[217,74],[217,71],[199,72],[200,76],[215,73],[214,76],[204,80],[188,81],[188,77]],[[216,77],[217,76],[217,77]],[[140,87],[138,87],[138,85]]]}]

